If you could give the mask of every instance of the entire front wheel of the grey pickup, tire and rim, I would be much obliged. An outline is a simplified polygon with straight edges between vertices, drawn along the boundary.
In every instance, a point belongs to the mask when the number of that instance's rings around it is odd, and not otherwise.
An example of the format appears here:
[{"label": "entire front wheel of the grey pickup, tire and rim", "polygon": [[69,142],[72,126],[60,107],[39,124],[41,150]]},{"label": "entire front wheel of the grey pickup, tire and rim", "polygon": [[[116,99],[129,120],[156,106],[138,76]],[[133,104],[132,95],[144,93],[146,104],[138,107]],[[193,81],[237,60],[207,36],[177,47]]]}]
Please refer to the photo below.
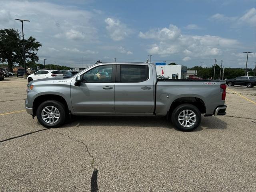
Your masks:
[{"label": "entire front wheel of the grey pickup, tire and rim", "polygon": [[44,101],[38,106],[36,117],[42,126],[57,128],[65,122],[65,106],[56,100]]}]

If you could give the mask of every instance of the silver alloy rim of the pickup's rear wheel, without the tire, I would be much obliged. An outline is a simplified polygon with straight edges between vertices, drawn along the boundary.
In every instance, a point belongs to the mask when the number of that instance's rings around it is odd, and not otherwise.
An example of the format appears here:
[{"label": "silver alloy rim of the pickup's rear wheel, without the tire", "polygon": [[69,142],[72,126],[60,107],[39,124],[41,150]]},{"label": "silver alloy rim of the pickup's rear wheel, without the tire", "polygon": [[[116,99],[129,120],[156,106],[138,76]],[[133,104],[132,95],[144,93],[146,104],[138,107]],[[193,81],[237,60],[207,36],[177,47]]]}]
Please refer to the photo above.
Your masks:
[{"label": "silver alloy rim of the pickup's rear wheel, without the tire", "polygon": [[178,116],[178,122],[183,127],[191,127],[196,123],[196,114],[192,110],[183,110]]}]

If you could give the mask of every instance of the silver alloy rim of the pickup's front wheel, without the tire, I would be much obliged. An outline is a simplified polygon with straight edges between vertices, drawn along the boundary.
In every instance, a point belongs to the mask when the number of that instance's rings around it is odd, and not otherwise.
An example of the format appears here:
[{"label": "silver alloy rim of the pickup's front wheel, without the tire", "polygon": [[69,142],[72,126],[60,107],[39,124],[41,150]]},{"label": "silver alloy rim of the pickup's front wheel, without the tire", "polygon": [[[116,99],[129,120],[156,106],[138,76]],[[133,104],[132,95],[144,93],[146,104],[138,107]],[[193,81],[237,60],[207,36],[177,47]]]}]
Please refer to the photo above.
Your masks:
[{"label": "silver alloy rim of the pickup's front wheel, without the tire", "polygon": [[48,124],[56,123],[60,118],[59,110],[54,106],[47,106],[41,112],[41,117]]}]

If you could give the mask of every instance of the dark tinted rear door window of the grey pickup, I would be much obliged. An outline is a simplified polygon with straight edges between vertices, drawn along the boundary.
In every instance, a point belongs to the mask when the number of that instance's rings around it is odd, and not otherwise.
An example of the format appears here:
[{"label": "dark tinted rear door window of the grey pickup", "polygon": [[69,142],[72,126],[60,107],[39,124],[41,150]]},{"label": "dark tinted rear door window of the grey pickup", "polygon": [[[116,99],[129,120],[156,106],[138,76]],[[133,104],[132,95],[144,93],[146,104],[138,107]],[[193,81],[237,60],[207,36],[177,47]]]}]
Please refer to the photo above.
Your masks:
[{"label": "dark tinted rear door window of the grey pickup", "polygon": [[120,82],[142,82],[148,78],[148,66],[121,65]]}]

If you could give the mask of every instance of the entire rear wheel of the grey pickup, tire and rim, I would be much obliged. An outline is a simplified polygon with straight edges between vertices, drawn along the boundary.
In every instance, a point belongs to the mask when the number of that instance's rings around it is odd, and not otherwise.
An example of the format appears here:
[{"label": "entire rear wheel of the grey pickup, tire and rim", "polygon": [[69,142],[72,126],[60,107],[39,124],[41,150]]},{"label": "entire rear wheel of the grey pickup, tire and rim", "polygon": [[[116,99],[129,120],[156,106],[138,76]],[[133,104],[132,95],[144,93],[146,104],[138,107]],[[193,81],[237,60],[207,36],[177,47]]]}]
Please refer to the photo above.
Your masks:
[{"label": "entire rear wheel of the grey pickup, tire and rim", "polygon": [[172,123],[180,131],[193,131],[201,123],[201,113],[192,104],[181,104],[172,112]]}]

